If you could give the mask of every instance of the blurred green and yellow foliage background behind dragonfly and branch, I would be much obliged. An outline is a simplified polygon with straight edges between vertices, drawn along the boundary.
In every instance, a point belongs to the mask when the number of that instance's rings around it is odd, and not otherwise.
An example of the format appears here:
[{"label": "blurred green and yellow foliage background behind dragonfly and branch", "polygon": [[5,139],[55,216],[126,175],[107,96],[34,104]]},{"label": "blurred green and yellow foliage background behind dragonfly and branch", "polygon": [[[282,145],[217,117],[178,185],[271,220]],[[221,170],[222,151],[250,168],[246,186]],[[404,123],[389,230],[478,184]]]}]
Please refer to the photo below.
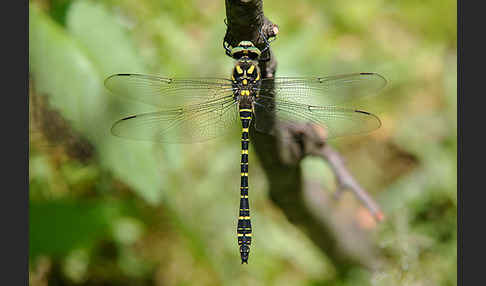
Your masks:
[{"label": "blurred green and yellow foliage background behind dragonfly and branch", "polygon": [[[382,128],[332,142],[385,214],[350,214],[385,264],[346,279],[270,202],[251,147],[254,243],[240,265],[239,136],[161,145],[110,134],[156,110],[110,95],[111,74],[229,76],[224,1],[29,3],[30,285],[456,285],[456,1],[264,1],[280,29],[277,76],[388,79],[362,103]],[[335,189],[325,162],[302,164]]]}]

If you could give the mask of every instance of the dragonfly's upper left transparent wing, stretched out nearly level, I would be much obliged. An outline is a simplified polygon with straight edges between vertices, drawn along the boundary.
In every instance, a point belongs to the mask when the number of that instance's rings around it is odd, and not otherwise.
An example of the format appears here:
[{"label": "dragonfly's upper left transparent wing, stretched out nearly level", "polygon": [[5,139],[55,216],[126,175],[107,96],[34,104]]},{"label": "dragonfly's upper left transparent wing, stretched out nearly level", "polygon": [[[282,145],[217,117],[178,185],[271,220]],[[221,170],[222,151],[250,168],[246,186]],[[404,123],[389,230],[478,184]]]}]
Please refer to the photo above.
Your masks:
[{"label": "dragonfly's upper left transparent wing, stretched out nearly level", "polygon": [[172,79],[142,74],[115,74],[105,80],[111,92],[160,107],[190,105],[233,94],[221,78]]}]

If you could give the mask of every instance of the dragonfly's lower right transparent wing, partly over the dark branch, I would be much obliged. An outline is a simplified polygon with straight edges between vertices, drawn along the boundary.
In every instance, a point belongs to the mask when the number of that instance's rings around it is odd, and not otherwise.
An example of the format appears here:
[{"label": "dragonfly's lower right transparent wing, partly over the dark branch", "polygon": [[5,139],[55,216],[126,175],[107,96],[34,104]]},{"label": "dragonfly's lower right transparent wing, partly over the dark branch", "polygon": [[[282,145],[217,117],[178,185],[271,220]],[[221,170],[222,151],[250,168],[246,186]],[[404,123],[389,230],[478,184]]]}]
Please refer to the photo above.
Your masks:
[{"label": "dragonfly's lower right transparent wing, partly over the dark branch", "polygon": [[[369,112],[337,106],[313,106],[289,101],[255,104],[255,128],[275,135],[273,122],[316,124],[328,139],[371,132],[381,126],[380,119]],[[278,126],[278,125],[277,125]]]}]

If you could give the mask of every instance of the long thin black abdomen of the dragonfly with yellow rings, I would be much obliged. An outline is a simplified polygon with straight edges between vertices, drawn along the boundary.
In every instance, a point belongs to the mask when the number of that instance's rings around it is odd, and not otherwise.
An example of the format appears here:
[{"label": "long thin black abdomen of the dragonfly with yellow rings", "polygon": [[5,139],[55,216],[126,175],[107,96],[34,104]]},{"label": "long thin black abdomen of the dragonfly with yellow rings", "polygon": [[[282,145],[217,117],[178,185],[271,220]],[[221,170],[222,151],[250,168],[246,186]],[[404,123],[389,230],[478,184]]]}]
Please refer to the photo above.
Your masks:
[{"label": "long thin black abdomen of the dragonfly with yellow rings", "polygon": [[241,119],[241,185],[240,185],[240,211],[238,217],[238,245],[240,246],[241,263],[248,263],[251,245],[250,204],[248,201],[248,147],[250,143],[249,127],[251,109],[240,108]]}]

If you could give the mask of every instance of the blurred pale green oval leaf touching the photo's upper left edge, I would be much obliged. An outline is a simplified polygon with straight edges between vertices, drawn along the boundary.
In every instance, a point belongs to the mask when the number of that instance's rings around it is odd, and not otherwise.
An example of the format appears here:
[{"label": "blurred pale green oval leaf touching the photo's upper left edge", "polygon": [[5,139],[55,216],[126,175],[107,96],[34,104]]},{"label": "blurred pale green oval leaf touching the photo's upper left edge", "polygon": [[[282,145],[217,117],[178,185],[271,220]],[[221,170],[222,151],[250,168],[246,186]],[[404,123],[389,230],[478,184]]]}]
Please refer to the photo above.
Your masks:
[{"label": "blurred pale green oval leaf touching the photo's upper left edge", "polygon": [[35,5],[29,12],[29,71],[36,89],[49,94],[51,106],[82,130],[105,104],[96,98],[101,92],[96,67],[62,27]]}]

